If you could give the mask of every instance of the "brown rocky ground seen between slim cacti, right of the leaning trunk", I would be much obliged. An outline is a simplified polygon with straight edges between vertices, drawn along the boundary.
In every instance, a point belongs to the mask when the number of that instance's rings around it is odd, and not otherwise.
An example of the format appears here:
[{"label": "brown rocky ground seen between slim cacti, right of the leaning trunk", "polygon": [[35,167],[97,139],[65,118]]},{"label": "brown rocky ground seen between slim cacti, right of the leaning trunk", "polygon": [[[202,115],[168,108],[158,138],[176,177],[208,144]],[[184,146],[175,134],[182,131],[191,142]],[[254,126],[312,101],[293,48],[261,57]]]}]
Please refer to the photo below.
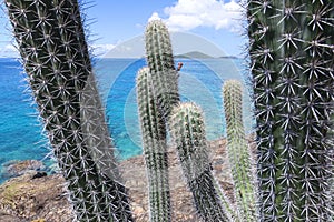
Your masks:
[{"label": "brown rocky ground seen between slim cacti, right of the leaning trunk", "polygon": [[[225,140],[210,142],[214,173],[222,188],[226,191],[226,194],[233,200],[233,185],[230,183],[232,176],[225,148]],[[200,219],[196,215],[193,196],[186,186],[181,167],[174,148],[170,148],[168,151],[168,161],[173,221],[200,221]],[[129,188],[129,196],[131,198],[131,206],[136,222],[149,221],[148,192],[144,157],[138,155],[122,161],[120,163],[120,170],[125,184],[127,188]]]}]

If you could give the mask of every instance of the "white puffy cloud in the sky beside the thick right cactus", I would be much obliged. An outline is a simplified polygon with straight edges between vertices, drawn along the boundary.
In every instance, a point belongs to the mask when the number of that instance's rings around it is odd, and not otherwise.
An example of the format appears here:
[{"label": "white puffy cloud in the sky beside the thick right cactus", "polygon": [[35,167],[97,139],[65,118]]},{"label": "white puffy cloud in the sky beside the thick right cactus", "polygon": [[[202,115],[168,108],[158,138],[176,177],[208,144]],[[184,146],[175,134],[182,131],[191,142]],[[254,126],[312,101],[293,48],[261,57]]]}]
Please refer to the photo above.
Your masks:
[{"label": "white puffy cloud in the sky beside the thick right cactus", "polygon": [[[213,27],[216,30],[240,30],[243,8],[232,0],[178,0],[173,7],[166,7],[166,23],[170,30],[187,31],[197,27]],[[155,12],[153,16],[158,17]],[[153,17],[151,17],[153,18]]]}]

